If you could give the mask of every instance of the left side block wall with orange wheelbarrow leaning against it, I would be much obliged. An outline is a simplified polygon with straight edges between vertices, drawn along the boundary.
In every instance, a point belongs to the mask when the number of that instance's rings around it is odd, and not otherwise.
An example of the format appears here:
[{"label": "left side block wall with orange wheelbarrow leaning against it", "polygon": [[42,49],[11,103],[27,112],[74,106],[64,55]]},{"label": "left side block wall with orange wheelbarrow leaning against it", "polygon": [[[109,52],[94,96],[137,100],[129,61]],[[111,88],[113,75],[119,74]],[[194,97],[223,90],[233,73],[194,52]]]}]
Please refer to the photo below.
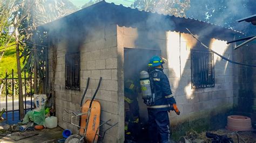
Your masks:
[{"label": "left side block wall with orange wheelbarrow leaning against it", "polygon": [[[86,88],[87,77],[90,77],[89,89],[86,99],[91,99],[94,94],[99,77],[103,77],[96,100],[101,104],[101,123],[111,119],[110,123],[118,122],[118,94],[117,94],[117,33],[116,25],[107,24],[101,27],[92,27],[86,31],[82,44],[79,46],[80,52],[80,91],[65,89],[65,53],[58,52],[57,70],[55,78],[56,92],[56,116],[58,125],[62,128],[69,128],[73,133],[77,133],[77,127],[62,121],[63,109],[72,111],[79,110],[80,100]],[[66,39],[59,39],[57,43],[58,51],[68,51],[67,47],[72,47]],[[49,52],[49,62],[51,65],[51,52]],[[51,66],[49,70],[52,77]],[[50,79],[51,81],[51,79]],[[68,119],[68,118],[67,118]],[[78,123],[78,119],[74,120]],[[103,142],[117,142],[118,126],[114,126],[106,132]],[[100,128],[103,133],[106,126]]]}]

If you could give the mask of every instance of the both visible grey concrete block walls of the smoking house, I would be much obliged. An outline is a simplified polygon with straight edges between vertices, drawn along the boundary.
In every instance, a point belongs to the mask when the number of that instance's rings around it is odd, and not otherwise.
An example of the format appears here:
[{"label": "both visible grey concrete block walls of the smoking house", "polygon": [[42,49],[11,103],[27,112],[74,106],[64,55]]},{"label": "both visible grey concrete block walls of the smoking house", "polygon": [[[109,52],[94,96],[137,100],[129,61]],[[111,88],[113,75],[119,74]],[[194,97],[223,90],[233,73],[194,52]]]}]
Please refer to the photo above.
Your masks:
[{"label": "both visible grey concrete block walls of the smoking house", "polygon": [[[180,116],[170,113],[172,125],[210,116],[216,108],[228,110],[233,105],[233,66],[217,58],[217,55],[214,55],[215,87],[191,89],[190,49],[197,45],[197,41],[189,34],[103,24],[92,27],[84,37],[79,46],[81,91],[65,89],[65,51],[72,45],[66,39],[59,39],[57,43],[56,113],[59,126],[71,128],[73,133],[77,132],[77,128],[62,121],[63,109],[78,110],[87,77],[91,80],[85,100],[91,98],[99,77],[102,76],[102,85],[96,95],[102,105],[101,120],[111,119],[112,124],[118,121],[118,125],[107,132],[103,142],[124,141],[124,47],[160,49],[161,55],[169,60],[164,65],[164,71],[181,110]],[[233,58],[232,48],[224,41],[211,39],[208,46],[230,59]],[[51,68],[49,77],[51,81]],[[100,128],[100,131],[105,128],[106,126]]]}]

